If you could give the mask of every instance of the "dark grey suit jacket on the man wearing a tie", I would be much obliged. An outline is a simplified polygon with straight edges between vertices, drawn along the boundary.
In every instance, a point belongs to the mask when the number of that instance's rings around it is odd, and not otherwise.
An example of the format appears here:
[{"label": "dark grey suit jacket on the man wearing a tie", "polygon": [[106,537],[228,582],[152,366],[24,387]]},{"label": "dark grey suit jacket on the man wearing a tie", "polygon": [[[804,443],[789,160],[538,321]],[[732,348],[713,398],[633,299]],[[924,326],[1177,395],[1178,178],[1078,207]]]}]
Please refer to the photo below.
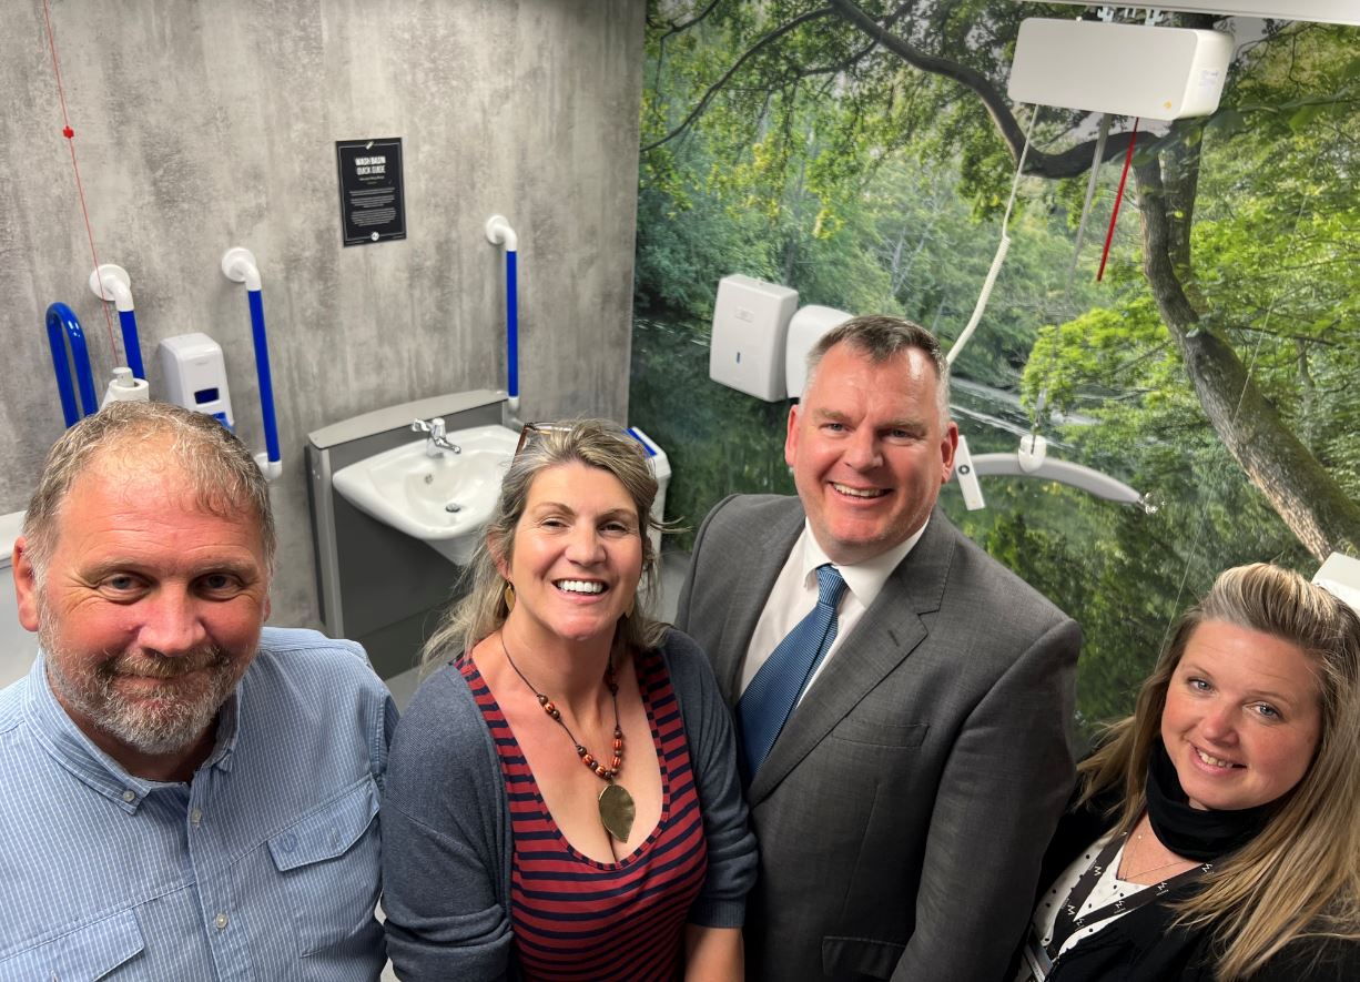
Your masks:
[{"label": "dark grey suit jacket on the man wearing a tie", "polygon": [[[797,498],[744,495],[699,529],[676,620],[729,705],[802,525]],[[1080,643],[932,514],[751,785],[748,978],[1001,978],[1074,779]]]}]

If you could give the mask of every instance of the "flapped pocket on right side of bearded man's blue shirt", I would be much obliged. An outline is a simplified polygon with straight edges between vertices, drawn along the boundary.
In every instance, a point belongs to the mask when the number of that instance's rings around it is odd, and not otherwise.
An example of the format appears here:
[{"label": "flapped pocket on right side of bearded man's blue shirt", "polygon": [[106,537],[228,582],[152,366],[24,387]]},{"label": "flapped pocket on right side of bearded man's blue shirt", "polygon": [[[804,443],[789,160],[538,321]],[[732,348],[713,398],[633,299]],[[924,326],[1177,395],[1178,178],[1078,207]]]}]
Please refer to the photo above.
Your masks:
[{"label": "flapped pocket on right side of bearded man's blue shirt", "polygon": [[381,877],[378,786],[359,783],[269,839],[298,924],[302,956],[339,948],[371,953],[382,928],[374,918]]}]

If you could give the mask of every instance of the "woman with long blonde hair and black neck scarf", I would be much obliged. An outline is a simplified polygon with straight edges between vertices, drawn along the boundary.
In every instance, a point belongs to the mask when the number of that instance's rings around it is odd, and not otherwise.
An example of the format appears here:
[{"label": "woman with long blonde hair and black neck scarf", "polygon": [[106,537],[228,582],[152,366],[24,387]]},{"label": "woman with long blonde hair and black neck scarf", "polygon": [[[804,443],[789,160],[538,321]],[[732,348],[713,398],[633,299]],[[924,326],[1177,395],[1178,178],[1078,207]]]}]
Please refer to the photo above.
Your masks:
[{"label": "woman with long blonde hair and black neck scarf", "polygon": [[1360,978],[1360,616],[1228,570],[1078,768],[1017,981]]}]

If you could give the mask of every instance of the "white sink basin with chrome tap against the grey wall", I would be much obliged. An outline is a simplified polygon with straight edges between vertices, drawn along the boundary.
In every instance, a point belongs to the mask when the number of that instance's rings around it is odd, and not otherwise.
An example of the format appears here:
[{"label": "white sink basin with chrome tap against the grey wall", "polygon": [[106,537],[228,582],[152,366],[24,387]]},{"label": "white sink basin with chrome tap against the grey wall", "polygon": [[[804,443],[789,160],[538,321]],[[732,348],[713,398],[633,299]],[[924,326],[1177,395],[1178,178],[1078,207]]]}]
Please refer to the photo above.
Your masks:
[{"label": "white sink basin with chrome tap against the grey wall", "polygon": [[360,511],[466,566],[520,434],[503,426],[475,426],[447,437],[462,453],[430,457],[422,437],[341,468],[332,481]]}]

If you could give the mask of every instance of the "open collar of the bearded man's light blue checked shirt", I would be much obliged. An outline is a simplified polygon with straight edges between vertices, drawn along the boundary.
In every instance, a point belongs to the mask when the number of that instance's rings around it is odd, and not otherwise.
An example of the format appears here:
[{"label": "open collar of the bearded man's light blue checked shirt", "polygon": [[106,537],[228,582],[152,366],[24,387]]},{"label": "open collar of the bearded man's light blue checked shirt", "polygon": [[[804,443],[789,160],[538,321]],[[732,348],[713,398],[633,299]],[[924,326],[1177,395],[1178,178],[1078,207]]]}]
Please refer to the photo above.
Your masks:
[{"label": "open collar of the bearded man's light blue checked shirt", "polygon": [[[231,755],[237,747],[238,721],[241,717],[241,698],[245,680],[237,684],[235,692],[228,696],[218,711],[218,734],[212,752],[200,766],[231,770]],[[99,749],[84,732],[76,726],[75,721],[67,715],[65,709],[57,702],[52,684],[48,680],[46,656],[39,650],[29,671],[27,698],[24,702],[29,717],[33,719],[38,740],[58,764],[65,767],[72,775],[113,800],[129,815],[137,811],[143,798],[158,788],[175,786],[160,781],[150,781],[128,774],[122,764]]]}]

